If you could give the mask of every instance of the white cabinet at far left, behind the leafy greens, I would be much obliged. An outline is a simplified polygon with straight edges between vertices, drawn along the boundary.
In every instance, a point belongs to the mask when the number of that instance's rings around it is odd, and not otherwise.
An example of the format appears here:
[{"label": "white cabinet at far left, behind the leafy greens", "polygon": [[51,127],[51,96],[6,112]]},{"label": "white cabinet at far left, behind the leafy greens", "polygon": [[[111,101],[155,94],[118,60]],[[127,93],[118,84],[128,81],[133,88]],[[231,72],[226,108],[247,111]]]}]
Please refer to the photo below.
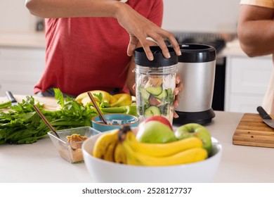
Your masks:
[{"label": "white cabinet at far left, behind the leafy greens", "polygon": [[45,48],[0,46],[0,96],[32,95],[44,70]]}]

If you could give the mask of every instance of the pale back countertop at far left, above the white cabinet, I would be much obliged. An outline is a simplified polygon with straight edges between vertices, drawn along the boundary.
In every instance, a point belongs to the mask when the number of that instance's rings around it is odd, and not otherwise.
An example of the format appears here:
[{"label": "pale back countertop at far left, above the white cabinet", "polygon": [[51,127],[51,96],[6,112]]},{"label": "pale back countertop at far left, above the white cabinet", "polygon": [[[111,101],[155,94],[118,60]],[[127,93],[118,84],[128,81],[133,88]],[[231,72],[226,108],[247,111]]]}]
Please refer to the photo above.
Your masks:
[{"label": "pale back countertop at far left, above the white cabinet", "polygon": [[44,32],[0,32],[0,46],[46,48]]}]

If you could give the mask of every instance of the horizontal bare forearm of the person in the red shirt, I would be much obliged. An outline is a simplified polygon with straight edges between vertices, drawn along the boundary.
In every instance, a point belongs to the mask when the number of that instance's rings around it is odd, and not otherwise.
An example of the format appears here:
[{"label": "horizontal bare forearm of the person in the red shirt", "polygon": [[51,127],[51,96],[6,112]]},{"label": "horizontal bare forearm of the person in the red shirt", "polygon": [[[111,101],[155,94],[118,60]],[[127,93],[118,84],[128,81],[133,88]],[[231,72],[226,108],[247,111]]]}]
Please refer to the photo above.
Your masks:
[{"label": "horizontal bare forearm of the person in the red shirt", "polygon": [[120,6],[114,0],[25,0],[30,13],[43,18],[115,17]]}]

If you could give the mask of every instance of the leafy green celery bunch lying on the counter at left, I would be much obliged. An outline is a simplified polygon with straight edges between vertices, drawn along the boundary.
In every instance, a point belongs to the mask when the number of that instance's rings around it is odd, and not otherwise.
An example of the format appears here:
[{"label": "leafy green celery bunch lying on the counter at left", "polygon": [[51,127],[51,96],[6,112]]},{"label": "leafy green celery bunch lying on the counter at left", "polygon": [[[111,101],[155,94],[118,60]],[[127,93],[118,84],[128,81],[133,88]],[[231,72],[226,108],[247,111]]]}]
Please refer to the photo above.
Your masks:
[{"label": "leafy green celery bunch lying on the counter at left", "polygon": [[[91,117],[97,113],[90,106],[83,106],[73,98],[63,98],[59,89],[54,89],[60,110],[48,111],[36,103],[56,130],[72,127],[91,126]],[[47,136],[50,131],[33,108],[34,98],[26,96],[26,100],[11,106],[11,111],[0,112],[0,144],[32,144]]]}]

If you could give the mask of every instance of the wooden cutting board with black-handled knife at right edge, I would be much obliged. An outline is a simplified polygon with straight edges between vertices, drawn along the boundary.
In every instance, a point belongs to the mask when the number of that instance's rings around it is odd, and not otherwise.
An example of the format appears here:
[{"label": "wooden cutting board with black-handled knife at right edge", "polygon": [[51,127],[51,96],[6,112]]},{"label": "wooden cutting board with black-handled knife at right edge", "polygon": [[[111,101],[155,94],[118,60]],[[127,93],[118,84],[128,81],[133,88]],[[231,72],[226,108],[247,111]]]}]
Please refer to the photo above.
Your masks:
[{"label": "wooden cutting board with black-handled knife at right edge", "polygon": [[[270,115],[273,120],[274,116]],[[274,129],[255,113],[244,113],[235,133],[233,144],[274,148]]]}]

